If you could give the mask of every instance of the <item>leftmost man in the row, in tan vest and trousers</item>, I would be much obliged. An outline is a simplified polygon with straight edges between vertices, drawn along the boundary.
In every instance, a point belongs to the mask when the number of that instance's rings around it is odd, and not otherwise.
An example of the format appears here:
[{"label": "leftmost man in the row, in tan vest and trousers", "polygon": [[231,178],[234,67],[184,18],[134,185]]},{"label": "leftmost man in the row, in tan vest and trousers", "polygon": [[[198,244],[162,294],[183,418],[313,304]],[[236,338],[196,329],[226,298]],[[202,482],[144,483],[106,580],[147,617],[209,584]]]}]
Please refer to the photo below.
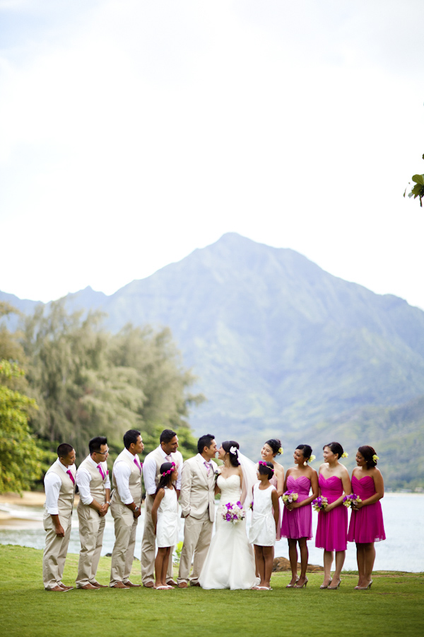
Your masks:
[{"label": "leftmost man in the row, in tan vest and trousers", "polygon": [[66,442],[57,447],[57,461],[45,475],[46,503],[43,525],[46,544],[42,556],[45,590],[66,592],[73,586],[62,583],[75,496],[75,451]]}]

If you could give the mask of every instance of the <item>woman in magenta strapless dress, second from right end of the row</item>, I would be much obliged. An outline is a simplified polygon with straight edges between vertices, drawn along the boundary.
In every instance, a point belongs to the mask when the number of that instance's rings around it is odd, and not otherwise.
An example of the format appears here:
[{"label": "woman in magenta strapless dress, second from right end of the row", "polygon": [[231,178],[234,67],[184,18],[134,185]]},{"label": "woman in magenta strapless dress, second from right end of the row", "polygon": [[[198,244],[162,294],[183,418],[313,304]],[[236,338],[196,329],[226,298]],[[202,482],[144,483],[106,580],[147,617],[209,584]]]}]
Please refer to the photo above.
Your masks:
[{"label": "woman in magenta strapless dress, second from right end of the row", "polygon": [[[346,458],[343,447],[338,442],[330,442],[323,448],[324,464],[319,467],[319,495],[323,495],[329,504],[318,514],[317,537],[315,546],[324,549],[324,581],[320,588],[335,590],[340,588],[340,573],[346,557],[348,534],[348,510],[343,505],[343,492],[351,493],[351,480],[348,470],[338,459]],[[333,551],[336,551],[336,569],[334,582],[331,580]]]}]

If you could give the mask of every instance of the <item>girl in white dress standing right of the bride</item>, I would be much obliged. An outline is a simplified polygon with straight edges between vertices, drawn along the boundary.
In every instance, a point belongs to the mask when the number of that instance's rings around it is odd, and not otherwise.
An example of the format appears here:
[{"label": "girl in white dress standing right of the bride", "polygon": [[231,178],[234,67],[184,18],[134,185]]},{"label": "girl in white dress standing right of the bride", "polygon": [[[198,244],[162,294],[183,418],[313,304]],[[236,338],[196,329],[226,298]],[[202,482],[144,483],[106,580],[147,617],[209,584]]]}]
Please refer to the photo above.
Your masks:
[{"label": "girl in white dress standing right of the bride", "polygon": [[271,462],[259,461],[257,471],[259,484],[253,488],[252,523],[249,529],[249,542],[254,545],[257,569],[261,581],[255,590],[271,590],[276,530],[280,520],[280,506],[276,488],[270,483],[273,476]]}]

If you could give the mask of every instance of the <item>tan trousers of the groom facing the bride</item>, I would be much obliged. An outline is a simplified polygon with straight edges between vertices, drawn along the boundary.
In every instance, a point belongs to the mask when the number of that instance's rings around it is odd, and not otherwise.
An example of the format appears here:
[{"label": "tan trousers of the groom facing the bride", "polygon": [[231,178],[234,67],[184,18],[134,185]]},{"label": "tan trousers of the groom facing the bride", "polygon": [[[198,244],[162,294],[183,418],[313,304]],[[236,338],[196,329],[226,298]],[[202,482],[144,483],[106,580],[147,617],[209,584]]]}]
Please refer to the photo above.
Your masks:
[{"label": "tan trousers of the groom facing the bride", "polygon": [[[190,585],[194,586],[199,580],[201,569],[208,554],[211,544],[213,522],[209,520],[209,509],[207,508],[200,520],[190,515],[184,518],[184,544],[182,546],[181,558],[179,559],[178,583],[188,582],[190,568],[193,572],[190,578]],[[194,559],[193,559],[194,553]]]}]

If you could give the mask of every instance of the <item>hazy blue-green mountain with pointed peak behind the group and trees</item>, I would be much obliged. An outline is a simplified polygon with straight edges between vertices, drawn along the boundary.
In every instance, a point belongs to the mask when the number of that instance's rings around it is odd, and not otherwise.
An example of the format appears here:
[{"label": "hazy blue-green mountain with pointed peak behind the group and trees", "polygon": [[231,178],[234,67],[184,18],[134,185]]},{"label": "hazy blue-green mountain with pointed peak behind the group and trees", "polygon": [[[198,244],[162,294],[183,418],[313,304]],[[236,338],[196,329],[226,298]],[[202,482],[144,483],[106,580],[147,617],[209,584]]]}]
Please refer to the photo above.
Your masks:
[{"label": "hazy blue-green mountain with pointed peak behind the group and trees", "polygon": [[254,457],[271,435],[297,440],[424,394],[423,311],[234,233],[111,296],[88,287],[66,304],[107,312],[111,331],[169,325],[208,398],[194,430],[248,443]]}]

